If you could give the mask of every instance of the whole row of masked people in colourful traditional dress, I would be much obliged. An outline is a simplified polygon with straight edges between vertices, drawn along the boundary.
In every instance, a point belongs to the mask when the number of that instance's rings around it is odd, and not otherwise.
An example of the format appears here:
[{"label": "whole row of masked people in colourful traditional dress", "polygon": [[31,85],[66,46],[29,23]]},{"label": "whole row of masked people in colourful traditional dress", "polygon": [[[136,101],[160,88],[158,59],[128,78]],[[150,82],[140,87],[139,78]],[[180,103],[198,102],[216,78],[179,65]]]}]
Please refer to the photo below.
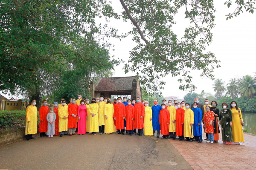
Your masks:
[{"label": "whole row of masked people in colourful traditional dress", "polygon": [[[82,99],[71,98],[70,103],[62,98],[61,104],[54,102],[54,107],[47,107],[47,101],[39,109],[40,137],[53,135],[84,135],[97,132],[125,135],[155,135],[162,138],[178,139],[180,141],[198,141],[201,143],[202,128],[207,133],[207,143],[218,142],[220,133],[218,122],[221,124],[222,141],[226,144],[244,144],[242,125],[244,124],[241,109],[236,101],[230,104],[222,103],[223,109],[219,111],[217,102],[205,100],[205,105],[200,104],[195,98],[193,104],[185,101],[162,101],[159,105],[154,100],[154,106],[149,107],[148,101],[140,98],[128,99],[121,97],[113,99],[100,96],[99,98]],[[31,100],[31,105],[26,109],[26,140],[33,139],[32,134],[37,133],[37,108],[36,101]],[[217,118],[219,117],[219,119]],[[201,123],[203,122],[203,126]],[[76,133],[77,129],[77,133]],[[138,132],[137,132],[138,130]],[[69,133],[67,133],[69,131]],[[126,131],[126,132],[125,132]],[[47,133],[47,134],[46,134]]]}]

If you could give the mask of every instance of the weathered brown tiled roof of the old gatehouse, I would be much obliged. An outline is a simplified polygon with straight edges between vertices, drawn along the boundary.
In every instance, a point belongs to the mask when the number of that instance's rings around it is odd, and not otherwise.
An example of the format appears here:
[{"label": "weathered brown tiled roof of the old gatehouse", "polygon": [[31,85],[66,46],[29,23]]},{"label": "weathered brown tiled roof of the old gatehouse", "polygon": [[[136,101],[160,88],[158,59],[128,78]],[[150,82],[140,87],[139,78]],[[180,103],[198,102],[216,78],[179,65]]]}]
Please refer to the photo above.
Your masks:
[{"label": "weathered brown tiled roof of the old gatehouse", "polygon": [[95,86],[96,92],[132,90],[132,81],[137,76],[101,78]]}]

